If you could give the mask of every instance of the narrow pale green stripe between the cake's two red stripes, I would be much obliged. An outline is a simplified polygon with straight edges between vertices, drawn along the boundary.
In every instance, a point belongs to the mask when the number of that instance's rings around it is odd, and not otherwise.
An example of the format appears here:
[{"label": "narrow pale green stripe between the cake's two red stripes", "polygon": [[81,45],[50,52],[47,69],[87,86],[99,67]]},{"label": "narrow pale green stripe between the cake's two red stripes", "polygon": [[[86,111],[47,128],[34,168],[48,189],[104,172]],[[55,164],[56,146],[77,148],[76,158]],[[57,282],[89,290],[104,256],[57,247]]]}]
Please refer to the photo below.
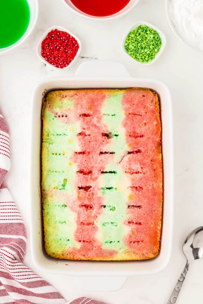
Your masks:
[{"label": "narrow pale green stripe between the cake's two red stripes", "polygon": [[[119,160],[127,150],[125,132],[122,126],[124,118],[122,98],[122,92],[115,93],[110,97],[107,96],[102,109],[102,113],[109,114],[103,116],[103,123],[107,126],[108,132],[119,136],[110,138],[109,145],[105,147],[108,151],[115,151],[113,160],[107,164],[105,171],[116,171],[117,174],[101,174],[100,176],[100,195],[103,196],[103,205],[106,207],[98,218],[99,229],[97,233],[104,249],[117,251],[127,248],[123,244],[123,237],[126,233],[123,222],[127,218],[126,205],[129,195],[128,186],[130,185],[119,164]],[[103,188],[105,187],[113,187],[116,191],[104,191]],[[107,206],[110,206],[110,208],[107,208]]]}]

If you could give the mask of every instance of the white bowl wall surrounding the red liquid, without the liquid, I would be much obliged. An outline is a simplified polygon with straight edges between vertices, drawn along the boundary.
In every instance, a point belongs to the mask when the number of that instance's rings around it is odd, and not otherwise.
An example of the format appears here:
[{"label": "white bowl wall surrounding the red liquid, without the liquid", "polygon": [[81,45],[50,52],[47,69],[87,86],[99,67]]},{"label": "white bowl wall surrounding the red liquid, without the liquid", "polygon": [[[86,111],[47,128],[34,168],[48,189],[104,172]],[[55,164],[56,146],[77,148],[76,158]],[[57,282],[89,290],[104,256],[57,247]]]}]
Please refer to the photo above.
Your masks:
[{"label": "white bowl wall surrounding the red liquid, without the liquid", "polygon": [[110,16],[105,16],[105,17],[96,17],[96,16],[91,16],[88,15],[81,10],[79,10],[72,2],[71,0],[62,0],[62,2],[68,6],[69,9],[71,9],[73,12],[77,13],[80,16],[89,18],[89,19],[97,19],[97,20],[105,20],[105,19],[113,19],[113,18],[119,18],[121,16],[124,16],[127,12],[129,12],[137,3],[139,0],[130,0],[129,3],[121,9],[121,11],[110,15]]}]

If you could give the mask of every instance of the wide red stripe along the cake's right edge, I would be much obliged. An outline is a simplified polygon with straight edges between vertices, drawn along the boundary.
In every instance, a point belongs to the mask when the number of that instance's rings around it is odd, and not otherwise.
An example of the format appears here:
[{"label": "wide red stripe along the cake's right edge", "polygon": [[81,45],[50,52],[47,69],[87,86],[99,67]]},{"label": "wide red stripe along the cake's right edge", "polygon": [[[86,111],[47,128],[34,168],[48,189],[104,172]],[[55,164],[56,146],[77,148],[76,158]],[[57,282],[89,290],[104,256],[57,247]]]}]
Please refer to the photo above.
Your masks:
[{"label": "wide red stripe along the cake's right edge", "polygon": [[[126,91],[122,101],[126,113],[123,120],[126,142],[130,151],[142,151],[142,153],[128,153],[121,162],[125,172],[140,172],[140,174],[128,174],[131,180],[131,195],[126,210],[129,217],[124,222],[130,229],[124,237],[124,244],[138,255],[159,242],[157,223],[158,219],[161,219],[161,208],[158,202],[162,202],[162,192],[159,191],[156,180],[161,181],[161,177],[155,178],[153,162],[156,160],[159,164],[161,161],[157,152],[160,121],[155,104],[155,97],[150,91],[145,91],[145,96],[139,90]],[[139,113],[140,116],[128,113]],[[133,208],[132,205],[139,207]]]}]

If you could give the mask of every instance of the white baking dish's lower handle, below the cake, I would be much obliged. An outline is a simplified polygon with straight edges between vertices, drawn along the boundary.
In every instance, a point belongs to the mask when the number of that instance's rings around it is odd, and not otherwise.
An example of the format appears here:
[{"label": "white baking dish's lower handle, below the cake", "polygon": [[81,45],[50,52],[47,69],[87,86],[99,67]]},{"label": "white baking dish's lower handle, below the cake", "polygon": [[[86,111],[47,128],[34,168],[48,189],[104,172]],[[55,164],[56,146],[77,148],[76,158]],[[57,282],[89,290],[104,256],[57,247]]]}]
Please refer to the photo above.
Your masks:
[{"label": "white baking dish's lower handle, below the cake", "polygon": [[88,291],[116,291],[123,287],[125,276],[79,276],[76,282],[82,290]]}]

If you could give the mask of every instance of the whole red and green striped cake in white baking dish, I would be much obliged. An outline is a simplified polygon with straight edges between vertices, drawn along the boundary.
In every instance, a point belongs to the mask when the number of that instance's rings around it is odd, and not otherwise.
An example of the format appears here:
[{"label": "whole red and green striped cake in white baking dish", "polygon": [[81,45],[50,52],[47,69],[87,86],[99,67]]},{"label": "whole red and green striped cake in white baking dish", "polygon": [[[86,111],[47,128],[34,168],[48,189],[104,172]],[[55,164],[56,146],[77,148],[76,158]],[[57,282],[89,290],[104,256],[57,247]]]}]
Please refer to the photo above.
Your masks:
[{"label": "whole red and green striped cake in white baking dish", "polygon": [[42,117],[47,254],[71,260],[156,257],[163,203],[156,93],[53,91]]}]

